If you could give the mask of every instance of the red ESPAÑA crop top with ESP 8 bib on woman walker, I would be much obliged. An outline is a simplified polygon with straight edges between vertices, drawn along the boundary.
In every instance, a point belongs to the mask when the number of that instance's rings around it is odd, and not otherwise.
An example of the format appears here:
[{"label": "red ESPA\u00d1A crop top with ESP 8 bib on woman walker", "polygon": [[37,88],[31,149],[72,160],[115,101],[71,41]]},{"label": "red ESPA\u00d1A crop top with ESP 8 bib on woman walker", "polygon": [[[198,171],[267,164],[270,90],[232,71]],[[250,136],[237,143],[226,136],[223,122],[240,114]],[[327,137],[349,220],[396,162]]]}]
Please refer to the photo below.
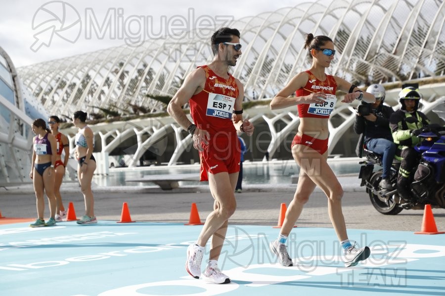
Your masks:
[{"label": "red ESPA\u00d1A crop top with ESP 8 bib on woman walker", "polygon": [[337,91],[337,82],[334,76],[326,74],[326,80],[318,80],[311,71],[306,71],[309,74],[308,82],[304,88],[300,88],[295,92],[297,97],[308,96],[311,93],[322,91],[326,94],[326,102],[323,104],[298,104],[298,116],[315,117],[315,118],[329,118],[332,110],[334,110],[337,98],[335,92]]}]

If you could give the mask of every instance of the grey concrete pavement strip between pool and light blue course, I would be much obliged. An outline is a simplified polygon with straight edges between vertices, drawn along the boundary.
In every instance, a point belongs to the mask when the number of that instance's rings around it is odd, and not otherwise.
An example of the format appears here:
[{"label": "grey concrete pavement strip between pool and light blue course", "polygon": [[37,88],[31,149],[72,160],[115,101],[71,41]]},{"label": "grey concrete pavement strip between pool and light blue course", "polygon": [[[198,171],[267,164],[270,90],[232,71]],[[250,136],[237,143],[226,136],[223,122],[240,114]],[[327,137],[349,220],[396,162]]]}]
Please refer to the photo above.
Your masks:
[{"label": "grey concrete pavement strip between pool and light blue course", "polygon": [[[371,205],[364,187],[356,176],[339,178],[344,187],[343,214],[348,228],[419,231],[423,211],[403,210],[396,216],[382,215]],[[5,217],[36,217],[35,196],[32,185],[0,188],[0,212]],[[296,185],[244,185],[236,193],[237,210],[230,222],[237,224],[276,225],[280,204],[286,205],[293,198]],[[188,222],[191,203],[196,203],[202,221],[213,208],[213,198],[208,185],[181,186],[161,190],[158,186],[93,186],[95,214],[98,220],[119,221],[124,202],[128,203],[131,217],[136,221]],[[65,208],[73,202],[78,217],[84,215],[84,201],[77,183],[63,184],[62,198]],[[45,217],[48,216],[45,200]],[[445,209],[433,209],[439,230],[445,231]],[[305,206],[297,225],[307,227],[332,227],[326,196],[315,189]]]}]

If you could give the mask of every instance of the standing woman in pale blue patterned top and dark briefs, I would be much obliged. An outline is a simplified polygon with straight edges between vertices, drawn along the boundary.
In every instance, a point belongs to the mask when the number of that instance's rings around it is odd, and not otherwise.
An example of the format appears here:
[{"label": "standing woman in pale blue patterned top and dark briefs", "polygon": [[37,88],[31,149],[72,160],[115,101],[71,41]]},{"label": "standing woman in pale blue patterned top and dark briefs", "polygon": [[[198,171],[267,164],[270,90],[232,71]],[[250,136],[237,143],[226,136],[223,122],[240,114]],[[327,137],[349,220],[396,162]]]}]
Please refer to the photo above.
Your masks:
[{"label": "standing woman in pale blue patterned top and dark briefs", "polygon": [[79,128],[74,144],[76,145],[77,177],[81,185],[82,194],[85,199],[85,216],[79,220],[78,224],[97,223],[94,216],[94,197],[91,191],[91,180],[96,169],[96,160],[92,155],[94,149],[94,135],[87,126],[87,113],[76,111],[73,115],[74,126]]}]

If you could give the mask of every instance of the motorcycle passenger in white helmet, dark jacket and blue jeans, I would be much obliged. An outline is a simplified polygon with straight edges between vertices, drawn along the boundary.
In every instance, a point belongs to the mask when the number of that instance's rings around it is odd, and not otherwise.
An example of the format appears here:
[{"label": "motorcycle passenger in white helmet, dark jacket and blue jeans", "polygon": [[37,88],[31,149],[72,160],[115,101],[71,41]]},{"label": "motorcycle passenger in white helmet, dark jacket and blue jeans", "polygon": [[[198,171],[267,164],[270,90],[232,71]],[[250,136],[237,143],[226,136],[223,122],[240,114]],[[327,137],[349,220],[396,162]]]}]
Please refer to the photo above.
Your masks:
[{"label": "motorcycle passenger in white helmet, dark jacket and blue jeans", "polygon": [[374,104],[362,103],[358,107],[356,120],[354,122],[354,131],[356,134],[363,133],[363,145],[368,150],[382,155],[383,174],[380,181],[380,187],[391,190],[391,165],[396,153],[396,144],[389,128],[389,120],[394,110],[383,105],[385,101],[385,88],[381,84],[371,84],[366,92],[375,97]]}]

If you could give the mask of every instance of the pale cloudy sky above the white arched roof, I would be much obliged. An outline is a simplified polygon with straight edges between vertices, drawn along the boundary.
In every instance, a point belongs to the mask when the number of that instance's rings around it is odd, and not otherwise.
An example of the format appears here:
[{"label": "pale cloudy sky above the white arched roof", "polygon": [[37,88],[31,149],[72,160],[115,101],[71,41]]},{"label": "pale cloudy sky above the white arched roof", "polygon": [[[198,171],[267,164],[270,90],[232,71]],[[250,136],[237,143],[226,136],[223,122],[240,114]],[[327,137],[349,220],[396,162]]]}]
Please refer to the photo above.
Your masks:
[{"label": "pale cloudy sky above the white arched roof", "polygon": [[[305,0],[309,2],[311,0]],[[165,34],[165,24],[182,28],[198,21],[295,6],[295,0],[9,0],[2,1],[0,46],[16,67],[135,42]],[[145,34],[140,24],[145,25]],[[164,24],[164,26],[162,26]],[[109,26],[108,26],[109,25]],[[100,26],[107,26],[101,29]],[[124,31],[127,28],[127,31]],[[148,28],[148,29],[147,29]],[[162,29],[164,28],[164,29]],[[102,30],[102,31],[101,31]],[[167,33],[168,34],[168,33]],[[132,37],[132,38],[129,38]],[[148,37],[146,37],[147,39]]]}]

